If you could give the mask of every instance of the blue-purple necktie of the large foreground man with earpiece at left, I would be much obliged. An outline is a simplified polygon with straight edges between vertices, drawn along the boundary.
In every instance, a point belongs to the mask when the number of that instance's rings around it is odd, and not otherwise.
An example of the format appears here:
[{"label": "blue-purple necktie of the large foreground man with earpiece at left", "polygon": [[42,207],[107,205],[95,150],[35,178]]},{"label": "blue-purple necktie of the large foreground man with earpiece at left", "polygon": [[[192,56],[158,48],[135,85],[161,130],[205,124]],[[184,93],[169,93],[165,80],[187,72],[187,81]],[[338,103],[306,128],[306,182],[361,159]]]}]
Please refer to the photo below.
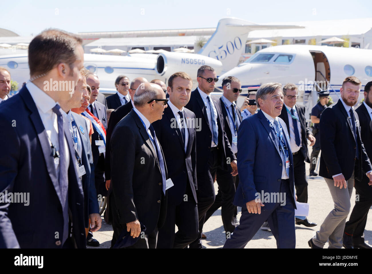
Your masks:
[{"label": "blue-purple necktie of the large foreground man with earpiece at left", "polygon": [[67,198],[68,166],[67,166],[67,161],[66,161],[67,155],[65,152],[63,117],[61,113],[62,109],[58,104],[56,104],[52,108],[52,110],[55,114],[57,114],[57,123],[58,123],[58,151],[60,153],[60,158],[59,158],[60,159],[59,160],[60,179],[58,183],[60,185],[61,198],[62,198],[62,211],[63,211],[63,220],[64,220],[62,243],[64,243],[68,237],[68,198]]}]

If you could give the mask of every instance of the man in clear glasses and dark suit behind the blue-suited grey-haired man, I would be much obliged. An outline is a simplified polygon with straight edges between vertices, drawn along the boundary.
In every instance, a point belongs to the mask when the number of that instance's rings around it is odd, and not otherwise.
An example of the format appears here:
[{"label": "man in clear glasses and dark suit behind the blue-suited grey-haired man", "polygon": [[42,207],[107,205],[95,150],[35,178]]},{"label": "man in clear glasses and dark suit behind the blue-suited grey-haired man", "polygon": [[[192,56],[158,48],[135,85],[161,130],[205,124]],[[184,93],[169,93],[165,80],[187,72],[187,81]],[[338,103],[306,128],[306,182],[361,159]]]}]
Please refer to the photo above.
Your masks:
[{"label": "man in clear glasses and dark suit behind the blue-suited grey-haired man", "polygon": [[[309,152],[307,149],[307,139],[311,142],[310,146],[315,144],[315,138],[306,124],[305,106],[298,105],[298,88],[295,84],[288,83],[283,86],[284,106],[279,117],[283,119],[289,132],[291,151],[293,154],[293,166],[295,174],[295,187],[297,201],[307,203],[307,180],[305,161],[310,163]],[[296,224],[303,224],[307,227],[316,226],[316,223],[307,218],[301,220],[296,218]]]}]

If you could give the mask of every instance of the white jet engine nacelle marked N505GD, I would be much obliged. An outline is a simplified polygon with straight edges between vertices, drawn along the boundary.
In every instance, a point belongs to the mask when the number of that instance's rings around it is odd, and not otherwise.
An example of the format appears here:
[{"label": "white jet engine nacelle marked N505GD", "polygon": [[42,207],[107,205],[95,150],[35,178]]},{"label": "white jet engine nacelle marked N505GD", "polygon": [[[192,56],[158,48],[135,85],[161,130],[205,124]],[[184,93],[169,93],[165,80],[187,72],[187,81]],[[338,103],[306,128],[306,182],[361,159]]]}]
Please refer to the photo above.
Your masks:
[{"label": "white jet engine nacelle marked N505GD", "polygon": [[189,74],[193,81],[196,81],[198,69],[203,65],[213,67],[217,76],[220,75],[222,70],[221,61],[200,54],[176,52],[158,54],[155,72],[169,79],[173,73],[183,71]]}]

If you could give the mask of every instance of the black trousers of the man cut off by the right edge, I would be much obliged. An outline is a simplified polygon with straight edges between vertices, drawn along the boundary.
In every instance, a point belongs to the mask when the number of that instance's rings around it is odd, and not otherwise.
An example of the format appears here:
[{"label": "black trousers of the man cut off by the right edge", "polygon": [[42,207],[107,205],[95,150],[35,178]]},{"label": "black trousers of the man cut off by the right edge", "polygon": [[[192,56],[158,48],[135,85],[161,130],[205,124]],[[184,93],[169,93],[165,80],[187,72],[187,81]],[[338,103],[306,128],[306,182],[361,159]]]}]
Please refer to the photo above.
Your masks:
[{"label": "black trousers of the man cut off by the right edge", "polygon": [[369,179],[363,174],[362,181],[355,180],[356,199],[349,221],[345,224],[344,232],[353,235],[353,243],[363,243],[363,233],[367,223],[369,208],[372,206],[372,186]]}]

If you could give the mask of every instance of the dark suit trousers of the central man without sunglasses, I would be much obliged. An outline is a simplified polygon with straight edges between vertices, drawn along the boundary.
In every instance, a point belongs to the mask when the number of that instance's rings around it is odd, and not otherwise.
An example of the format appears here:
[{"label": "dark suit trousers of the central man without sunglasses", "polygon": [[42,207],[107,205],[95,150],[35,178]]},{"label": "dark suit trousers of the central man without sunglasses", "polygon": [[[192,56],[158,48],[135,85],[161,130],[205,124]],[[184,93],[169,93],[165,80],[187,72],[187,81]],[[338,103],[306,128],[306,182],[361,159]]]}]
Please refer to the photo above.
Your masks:
[{"label": "dark suit trousers of the central man without sunglasses", "polygon": [[[198,205],[187,179],[187,196],[179,205],[167,205],[164,225],[159,228],[156,248],[186,248],[199,234]],[[174,233],[175,225],[178,231]]]}]

